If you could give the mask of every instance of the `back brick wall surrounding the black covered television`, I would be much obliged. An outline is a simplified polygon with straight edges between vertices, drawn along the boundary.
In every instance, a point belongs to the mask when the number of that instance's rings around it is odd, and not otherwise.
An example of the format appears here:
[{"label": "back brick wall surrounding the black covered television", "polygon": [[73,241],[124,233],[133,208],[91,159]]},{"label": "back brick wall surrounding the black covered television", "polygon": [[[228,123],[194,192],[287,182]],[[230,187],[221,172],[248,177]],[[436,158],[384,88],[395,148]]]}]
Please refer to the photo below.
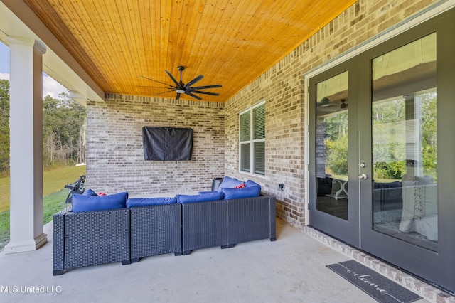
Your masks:
[{"label": "back brick wall surrounding the black covered television", "polygon": [[[208,190],[224,171],[223,103],[107,95],[87,104],[87,186],[131,196]],[[142,127],[193,129],[191,161],[144,161]]]}]

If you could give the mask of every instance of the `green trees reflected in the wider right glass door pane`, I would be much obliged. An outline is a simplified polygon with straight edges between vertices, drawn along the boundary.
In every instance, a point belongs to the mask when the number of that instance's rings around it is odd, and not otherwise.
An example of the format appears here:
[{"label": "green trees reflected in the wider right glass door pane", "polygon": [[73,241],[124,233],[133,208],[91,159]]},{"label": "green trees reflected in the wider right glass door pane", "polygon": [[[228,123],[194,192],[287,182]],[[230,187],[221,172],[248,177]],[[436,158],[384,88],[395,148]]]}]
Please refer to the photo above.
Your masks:
[{"label": "green trees reflected in the wider right glass door pane", "polygon": [[[401,179],[406,173],[407,145],[410,134],[407,122],[418,122],[415,134],[422,140],[417,160],[425,176],[437,179],[437,94],[424,92],[411,100],[411,110],[417,110],[418,117],[406,117],[406,100],[378,102],[373,105],[373,161],[375,178]],[[417,102],[419,100],[419,102]],[[412,120],[411,120],[412,119]]]}]

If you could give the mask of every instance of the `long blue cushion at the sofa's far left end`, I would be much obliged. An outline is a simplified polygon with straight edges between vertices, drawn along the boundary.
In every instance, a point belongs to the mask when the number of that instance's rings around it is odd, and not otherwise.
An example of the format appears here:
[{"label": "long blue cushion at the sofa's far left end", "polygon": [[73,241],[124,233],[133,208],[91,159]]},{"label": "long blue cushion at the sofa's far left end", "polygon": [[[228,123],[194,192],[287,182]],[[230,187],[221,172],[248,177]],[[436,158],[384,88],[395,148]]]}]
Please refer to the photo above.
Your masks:
[{"label": "long blue cushion at the sofa's far left end", "polygon": [[74,194],[71,198],[73,212],[77,211],[100,211],[103,209],[125,208],[127,206],[128,193],[114,193],[107,196],[84,196]]}]

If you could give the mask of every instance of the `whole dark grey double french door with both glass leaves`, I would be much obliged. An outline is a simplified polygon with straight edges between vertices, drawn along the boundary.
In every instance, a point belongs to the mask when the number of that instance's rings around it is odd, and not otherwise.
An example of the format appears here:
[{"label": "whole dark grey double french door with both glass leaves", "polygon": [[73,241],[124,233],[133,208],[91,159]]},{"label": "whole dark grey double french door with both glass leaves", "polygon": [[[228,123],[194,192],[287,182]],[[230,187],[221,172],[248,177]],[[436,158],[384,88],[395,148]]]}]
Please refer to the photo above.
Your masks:
[{"label": "whole dark grey double french door with both glass leaves", "polygon": [[454,20],[452,9],[309,80],[310,225],[451,291]]}]

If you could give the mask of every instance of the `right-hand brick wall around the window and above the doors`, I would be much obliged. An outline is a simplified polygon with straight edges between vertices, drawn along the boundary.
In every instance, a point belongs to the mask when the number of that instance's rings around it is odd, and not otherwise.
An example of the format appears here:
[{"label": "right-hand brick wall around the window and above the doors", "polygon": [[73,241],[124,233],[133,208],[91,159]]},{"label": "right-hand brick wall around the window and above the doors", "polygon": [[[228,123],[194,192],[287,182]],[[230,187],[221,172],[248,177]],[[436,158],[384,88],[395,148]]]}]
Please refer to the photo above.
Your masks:
[{"label": "right-hand brick wall around the window and above the doors", "polygon": [[[277,216],[304,226],[305,172],[304,73],[358,46],[437,1],[359,0],[276,65],[247,85],[225,105],[225,173],[238,172],[238,114],[265,100],[265,178],[255,179],[277,196]],[[278,184],[284,184],[284,191]]]}]

